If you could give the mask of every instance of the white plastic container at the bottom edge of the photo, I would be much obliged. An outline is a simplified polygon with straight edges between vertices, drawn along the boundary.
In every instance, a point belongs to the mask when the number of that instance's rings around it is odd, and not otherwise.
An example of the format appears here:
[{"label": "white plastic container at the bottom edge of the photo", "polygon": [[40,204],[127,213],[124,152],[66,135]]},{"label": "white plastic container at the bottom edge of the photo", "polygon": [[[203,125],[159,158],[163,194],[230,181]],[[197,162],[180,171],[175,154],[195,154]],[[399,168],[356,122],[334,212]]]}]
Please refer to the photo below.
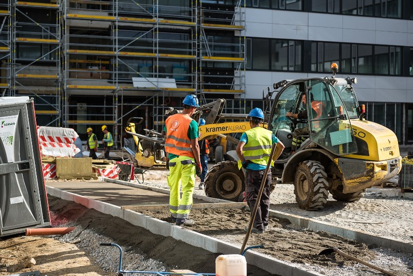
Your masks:
[{"label": "white plastic container at the bottom edge of the photo", "polygon": [[247,276],[247,260],[238,254],[220,255],[215,260],[216,276]]}]

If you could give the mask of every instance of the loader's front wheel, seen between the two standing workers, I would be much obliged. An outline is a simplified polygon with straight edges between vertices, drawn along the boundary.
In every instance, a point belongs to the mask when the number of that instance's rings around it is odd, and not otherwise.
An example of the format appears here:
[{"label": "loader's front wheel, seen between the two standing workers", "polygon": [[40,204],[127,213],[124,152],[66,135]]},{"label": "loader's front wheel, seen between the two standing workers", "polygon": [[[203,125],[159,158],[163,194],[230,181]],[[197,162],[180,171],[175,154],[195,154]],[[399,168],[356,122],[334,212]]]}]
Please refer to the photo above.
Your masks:
[{"label": "loader's front wheel, seen between the two standing workers", "polygon": [[206,174],[204,183],[206,196],[235,202],[245,190],[244,174],[233,161],[214,165]]}]

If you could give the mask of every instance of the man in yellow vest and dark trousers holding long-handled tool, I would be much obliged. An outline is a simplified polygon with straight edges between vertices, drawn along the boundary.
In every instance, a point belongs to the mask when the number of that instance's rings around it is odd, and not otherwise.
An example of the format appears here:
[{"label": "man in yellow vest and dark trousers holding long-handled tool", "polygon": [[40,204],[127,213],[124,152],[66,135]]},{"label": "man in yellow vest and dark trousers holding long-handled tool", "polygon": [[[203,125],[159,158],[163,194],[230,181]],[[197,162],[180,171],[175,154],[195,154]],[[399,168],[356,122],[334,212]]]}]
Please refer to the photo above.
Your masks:
[{"label": "man in yellow vest and dark trousers holding long-handled tool", "polygon": [[[264,171],[269,161],[272,144],[277,145],[271,160],[271,166],[274,165],[273,161],[277,160],[285,146],[270,130],[260,127],[264,120],[264,113],[261,109],[254,108],[251,110],[248,119],[251,129],[242,133],[236,149],[239,157],[238,168],[242,166],[245,169],[245,197],[250,210],[253,211],[255,204],[259,204],[251,232],[263,233],[269,227],[271,169],[266,176],[264,176]],[[263,178],[266,178],[265,187],[260,201],[256,202]],[[244,230],[247,231],[248,226]]]}]

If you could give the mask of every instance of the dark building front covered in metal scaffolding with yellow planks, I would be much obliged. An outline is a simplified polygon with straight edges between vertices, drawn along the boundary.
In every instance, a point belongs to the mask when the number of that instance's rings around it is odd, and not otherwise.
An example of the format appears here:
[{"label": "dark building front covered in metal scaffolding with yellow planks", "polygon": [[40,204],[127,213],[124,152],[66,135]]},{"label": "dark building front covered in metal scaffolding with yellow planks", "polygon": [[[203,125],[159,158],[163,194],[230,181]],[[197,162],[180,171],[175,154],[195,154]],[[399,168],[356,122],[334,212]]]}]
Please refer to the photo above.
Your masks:
[{"label": "dark building front covered in metal scaffolding with yellow planks", "polygon": [[[1,0],[2,95],[34,97],[39,125],[79,134],[108,125],[115,140],[130,116],[145,118],[142,128],[158,130],[163,107],[180,106],[187,94],[204,102],[204,94],[224,96],[232,112],[243,113],[240,5]],[[169,80],[174,86],[164,87]]]}]

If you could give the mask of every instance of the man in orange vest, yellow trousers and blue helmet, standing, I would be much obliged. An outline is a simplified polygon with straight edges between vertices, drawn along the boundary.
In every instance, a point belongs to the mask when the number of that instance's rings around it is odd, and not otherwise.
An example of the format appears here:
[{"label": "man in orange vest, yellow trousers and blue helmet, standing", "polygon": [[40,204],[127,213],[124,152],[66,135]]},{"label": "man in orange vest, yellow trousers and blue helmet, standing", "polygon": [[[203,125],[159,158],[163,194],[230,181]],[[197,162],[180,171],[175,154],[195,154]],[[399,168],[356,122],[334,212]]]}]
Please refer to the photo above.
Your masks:
[{"label": "man in orange vest, yellow trousers and blue helmet, standing", "polygon": [[[192,208],[192,193],[195,187],[195,174],[201,175],[199,156],[198,124],[191,116],[198,104],[196,95],[188,95],[182,101],[182,113],[169,116],[165,121],[165,150],[169,159],[167,182],[171,188],[169,211],[176,225],[192,225],[189,219]],[[179,190],[182,185],[182,197]]]}]

